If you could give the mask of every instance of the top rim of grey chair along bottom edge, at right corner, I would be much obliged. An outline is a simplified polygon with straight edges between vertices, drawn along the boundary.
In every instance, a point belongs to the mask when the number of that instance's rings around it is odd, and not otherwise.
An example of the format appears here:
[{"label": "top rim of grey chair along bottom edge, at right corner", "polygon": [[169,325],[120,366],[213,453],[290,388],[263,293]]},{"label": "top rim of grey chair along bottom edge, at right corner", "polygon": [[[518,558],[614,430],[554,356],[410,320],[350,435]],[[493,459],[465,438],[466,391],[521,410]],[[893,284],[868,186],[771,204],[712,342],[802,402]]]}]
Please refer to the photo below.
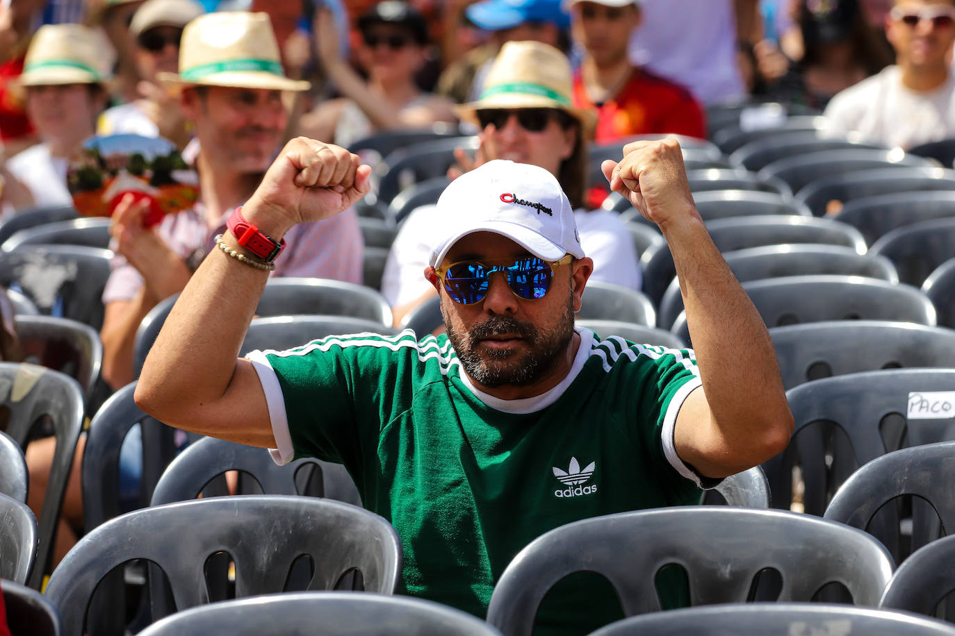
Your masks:
[{"label": "top rim of grey chair along bottom edge, at right corner", "polygon": [[852,605],[747,603],[644,614],[590,636],[955,636],[955,626],[898,611]]}]

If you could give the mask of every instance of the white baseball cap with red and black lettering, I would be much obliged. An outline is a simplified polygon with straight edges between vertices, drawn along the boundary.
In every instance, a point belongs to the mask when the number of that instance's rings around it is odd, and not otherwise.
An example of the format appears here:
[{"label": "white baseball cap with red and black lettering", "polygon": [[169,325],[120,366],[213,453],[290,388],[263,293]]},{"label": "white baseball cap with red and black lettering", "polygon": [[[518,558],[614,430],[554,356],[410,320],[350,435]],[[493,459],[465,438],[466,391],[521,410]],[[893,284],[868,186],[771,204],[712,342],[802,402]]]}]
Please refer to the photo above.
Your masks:
[{"label": "white baseball cap with red and black lettering", "polygon": [[463,236],[493,232],[543,260],[583,258],[574,211],[557,177],[538,166],[503,159],[462,174],[437,199],[444,234],[432,252],[437,267]]}]

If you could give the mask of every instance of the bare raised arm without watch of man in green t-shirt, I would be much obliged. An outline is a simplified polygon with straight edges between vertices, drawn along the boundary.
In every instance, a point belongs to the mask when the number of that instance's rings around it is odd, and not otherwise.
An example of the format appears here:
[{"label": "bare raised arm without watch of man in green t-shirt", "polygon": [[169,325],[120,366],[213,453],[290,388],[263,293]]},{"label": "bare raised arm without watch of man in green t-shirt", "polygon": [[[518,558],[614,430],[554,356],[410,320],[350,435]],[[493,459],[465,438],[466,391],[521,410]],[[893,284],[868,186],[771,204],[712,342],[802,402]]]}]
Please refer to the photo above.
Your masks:
[{"label": "bare raised arm without watch of man in green t-shirt", "polygon": [[677,455],[712,478],[769,460],[793,430],[775,349],[693,205],[679,144],[634,142],[603,168],[611,189],[660,227],[680,280],[703,386],[677,416]]}]

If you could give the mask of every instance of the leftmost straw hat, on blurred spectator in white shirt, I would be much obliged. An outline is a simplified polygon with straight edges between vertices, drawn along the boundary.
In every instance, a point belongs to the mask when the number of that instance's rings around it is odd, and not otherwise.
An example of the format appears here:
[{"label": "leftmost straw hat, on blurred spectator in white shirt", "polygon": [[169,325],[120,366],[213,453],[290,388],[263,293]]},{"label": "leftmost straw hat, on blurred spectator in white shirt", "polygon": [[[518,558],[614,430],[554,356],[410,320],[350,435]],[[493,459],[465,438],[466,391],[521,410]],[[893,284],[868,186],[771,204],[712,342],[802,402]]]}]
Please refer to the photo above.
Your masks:
[{"label": "leftmost straw hat, on blurred spectator in white shirt", "polygon": [[99,34],[78,24],[44,25],[33,35],[17,87],[102,84],[110,79]]}]

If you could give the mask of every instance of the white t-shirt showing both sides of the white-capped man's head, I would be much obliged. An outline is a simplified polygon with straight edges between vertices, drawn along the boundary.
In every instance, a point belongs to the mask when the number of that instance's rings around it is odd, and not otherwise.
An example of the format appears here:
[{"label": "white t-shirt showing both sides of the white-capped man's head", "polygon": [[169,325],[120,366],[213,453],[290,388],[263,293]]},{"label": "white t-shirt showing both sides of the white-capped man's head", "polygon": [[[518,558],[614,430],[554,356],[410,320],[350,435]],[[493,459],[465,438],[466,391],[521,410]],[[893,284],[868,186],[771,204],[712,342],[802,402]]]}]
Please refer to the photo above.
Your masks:
[{"label": "white t-shirt showing both sides of the white-capped man's head", "polygon": [[[602,280],[640,290],[641,276],[637,250],[620,215],[606,210],[576,210],[574,219],[584,254],[593,258],[591,280]],[[431,283],[424,277],[434,246],[440,240],[441,215],[434,205],[415,208],[398,236],[381,277],[381,291],[393,307],[422,297]]]}]

